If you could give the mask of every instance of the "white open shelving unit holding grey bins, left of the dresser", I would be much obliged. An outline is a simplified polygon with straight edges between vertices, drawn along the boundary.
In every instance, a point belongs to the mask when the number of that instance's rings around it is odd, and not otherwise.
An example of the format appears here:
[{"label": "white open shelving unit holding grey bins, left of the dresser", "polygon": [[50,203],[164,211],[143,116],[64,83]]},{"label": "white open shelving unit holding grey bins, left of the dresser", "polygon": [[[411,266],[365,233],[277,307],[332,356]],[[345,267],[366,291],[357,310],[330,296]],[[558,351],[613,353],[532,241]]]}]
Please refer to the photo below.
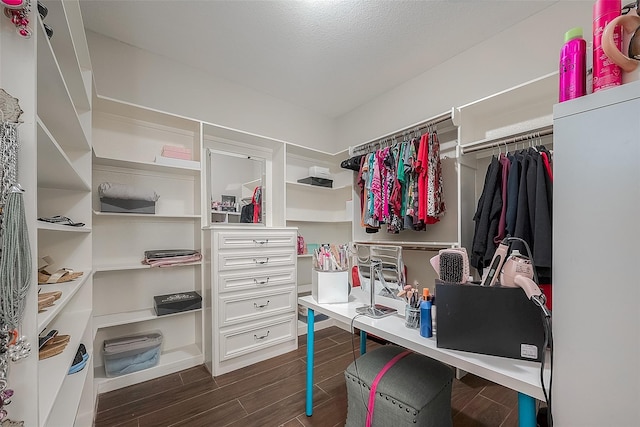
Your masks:
[{"label": "white open shelving unit holding grey bins, left of the dresser", "polygon": [[[135,384],[201,364],[203,314],[193,310],[156,316],[153,297],[176,292],[203,294],[202,262],[150,268],[144,252],[202,250],[200,124],[171,114],[114,100],[97,99],[93,156],[93,347],[104,340],[142,331],[163,333],[157,366],[107,378],[102,357],[95,359],[98,392]],[[165,145],[191,150],[192,161],[156,162]],[[103,182],[153,190],[155,214],[101,212]]]}]

